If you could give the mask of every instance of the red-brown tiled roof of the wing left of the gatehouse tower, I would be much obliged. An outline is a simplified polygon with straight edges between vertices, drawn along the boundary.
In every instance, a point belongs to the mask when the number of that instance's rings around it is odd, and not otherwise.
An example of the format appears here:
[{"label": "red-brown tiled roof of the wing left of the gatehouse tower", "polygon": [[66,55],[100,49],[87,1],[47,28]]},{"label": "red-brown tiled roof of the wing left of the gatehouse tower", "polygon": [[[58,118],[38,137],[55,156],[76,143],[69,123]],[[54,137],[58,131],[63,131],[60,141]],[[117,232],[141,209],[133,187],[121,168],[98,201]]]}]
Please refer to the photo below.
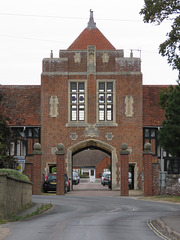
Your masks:
[{"label": "red-brown tiled roof of the wing left of the gatehouse tower", "polygon": [[39,126],[40,86],[0,86],[3,93],[1,111],[12,126]]}]

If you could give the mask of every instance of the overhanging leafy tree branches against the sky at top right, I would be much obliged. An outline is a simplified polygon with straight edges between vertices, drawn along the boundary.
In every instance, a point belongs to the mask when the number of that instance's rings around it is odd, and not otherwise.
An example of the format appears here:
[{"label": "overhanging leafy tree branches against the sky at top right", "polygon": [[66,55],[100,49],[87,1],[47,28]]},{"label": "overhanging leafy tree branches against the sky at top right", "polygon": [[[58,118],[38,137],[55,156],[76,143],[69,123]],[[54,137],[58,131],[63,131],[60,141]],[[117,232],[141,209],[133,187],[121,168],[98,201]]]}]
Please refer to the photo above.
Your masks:
[{"label": "overhanging leafy tree branches against the sky at top right", "polygon": [[144,22],[161,24],[165,19],[173,20],[167,40],[160,44],[159,53],[167,57],[173,69],[179,70],[180,78],[180,2],[179,0],[145,0],[140,11]]}]

